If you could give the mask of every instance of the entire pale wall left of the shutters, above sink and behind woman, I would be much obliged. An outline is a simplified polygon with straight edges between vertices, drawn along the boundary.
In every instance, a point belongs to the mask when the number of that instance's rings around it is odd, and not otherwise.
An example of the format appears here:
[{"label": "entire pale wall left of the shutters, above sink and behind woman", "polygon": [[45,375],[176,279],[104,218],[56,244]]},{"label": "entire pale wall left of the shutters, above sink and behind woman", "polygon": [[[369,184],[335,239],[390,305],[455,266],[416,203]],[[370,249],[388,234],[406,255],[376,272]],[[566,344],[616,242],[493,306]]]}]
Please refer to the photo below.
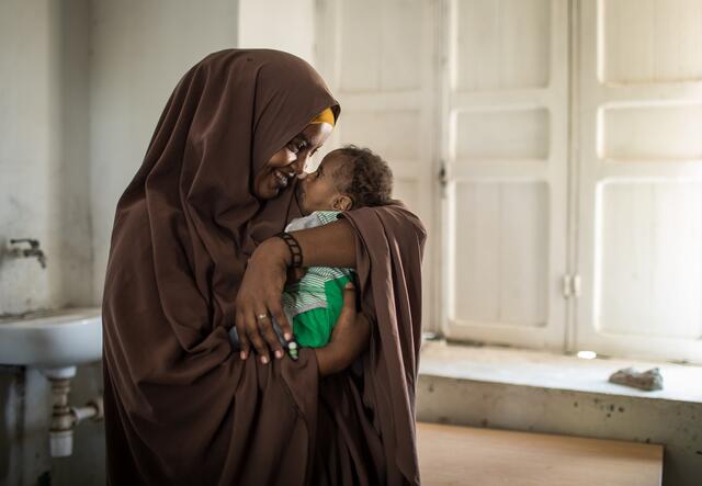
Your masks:
[{"label": "entire pale wall left of the shutters, above sink and behind woman", "polygon": [[[312,0],[245,0],[241,22],[238,3],[0,3],[0,314],[100,303],[116,201],[193,64],[237,45],[314,64]],[[16,237],[46,270],[8,256]]]}]

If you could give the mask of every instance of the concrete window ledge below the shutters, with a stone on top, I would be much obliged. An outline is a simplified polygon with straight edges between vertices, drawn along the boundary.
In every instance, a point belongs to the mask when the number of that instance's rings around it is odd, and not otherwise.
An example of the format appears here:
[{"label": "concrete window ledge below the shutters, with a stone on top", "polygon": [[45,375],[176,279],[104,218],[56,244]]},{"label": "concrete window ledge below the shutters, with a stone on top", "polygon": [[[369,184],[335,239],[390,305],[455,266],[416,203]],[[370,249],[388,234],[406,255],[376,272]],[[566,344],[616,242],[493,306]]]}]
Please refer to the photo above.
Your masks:
[{"label": "concrete window ledge below the shutters, with a stone on top", "polygon": [[[658,366],[664,389],[608,382]],[[664,485],[702,474],[702,368],[490,347],[422,344],[417,419],[665,445]]]}]

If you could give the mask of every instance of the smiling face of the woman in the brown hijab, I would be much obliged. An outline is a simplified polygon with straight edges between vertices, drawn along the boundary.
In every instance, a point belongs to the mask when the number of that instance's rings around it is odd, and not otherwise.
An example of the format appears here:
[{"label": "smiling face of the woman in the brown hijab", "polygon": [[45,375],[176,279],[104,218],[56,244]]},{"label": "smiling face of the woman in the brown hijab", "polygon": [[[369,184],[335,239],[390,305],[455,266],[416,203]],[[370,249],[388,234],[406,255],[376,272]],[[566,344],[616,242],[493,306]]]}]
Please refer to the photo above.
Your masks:
[{"label": "smiling face of the woman in the brown hijab", "polygon": [[262,200],[270,200],[285,189],[295,176],[305,177],[305,163],[329,137],[332,126],[315,123],[293,137],[285,147],[278,150],[253,178],[253,193]]}]

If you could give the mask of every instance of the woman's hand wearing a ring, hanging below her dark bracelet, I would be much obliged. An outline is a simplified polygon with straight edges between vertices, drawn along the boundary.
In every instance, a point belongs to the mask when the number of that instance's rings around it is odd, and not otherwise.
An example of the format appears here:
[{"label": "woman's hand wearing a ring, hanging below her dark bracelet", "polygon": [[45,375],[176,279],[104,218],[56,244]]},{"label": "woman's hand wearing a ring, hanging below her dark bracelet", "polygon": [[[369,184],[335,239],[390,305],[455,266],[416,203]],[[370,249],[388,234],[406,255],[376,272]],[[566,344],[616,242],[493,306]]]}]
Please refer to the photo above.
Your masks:
[{"label": "woman's hand wearing a ring, hanging below her dark bracelet", "polygon": [[280,325],[283,337],[290,340],[293,331],[281,304],[288,259],[287,245],[280,238],[263,241],[249,259],[236,299],[236,327],[242,360],[249,357],[251,346],[264,364],[270,362],[270,351],[278,359],[284,355],[271,316]]}]

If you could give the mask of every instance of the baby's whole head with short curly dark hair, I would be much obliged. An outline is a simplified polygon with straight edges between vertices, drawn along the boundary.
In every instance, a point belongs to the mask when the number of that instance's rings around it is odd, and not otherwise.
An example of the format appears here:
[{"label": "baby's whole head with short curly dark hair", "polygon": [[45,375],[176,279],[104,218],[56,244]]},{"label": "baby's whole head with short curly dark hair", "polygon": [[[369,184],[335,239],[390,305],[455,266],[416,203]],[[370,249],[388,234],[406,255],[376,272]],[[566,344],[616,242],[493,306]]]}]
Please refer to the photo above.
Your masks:
[{"label": "baby's whole head with short curly dark hair", "polygon": [[349,211],[388,204],[393,172],[387,162],[367,148],[347,145],[332,150],[317,170],[299,184],[304,214],[314,211]]}]

